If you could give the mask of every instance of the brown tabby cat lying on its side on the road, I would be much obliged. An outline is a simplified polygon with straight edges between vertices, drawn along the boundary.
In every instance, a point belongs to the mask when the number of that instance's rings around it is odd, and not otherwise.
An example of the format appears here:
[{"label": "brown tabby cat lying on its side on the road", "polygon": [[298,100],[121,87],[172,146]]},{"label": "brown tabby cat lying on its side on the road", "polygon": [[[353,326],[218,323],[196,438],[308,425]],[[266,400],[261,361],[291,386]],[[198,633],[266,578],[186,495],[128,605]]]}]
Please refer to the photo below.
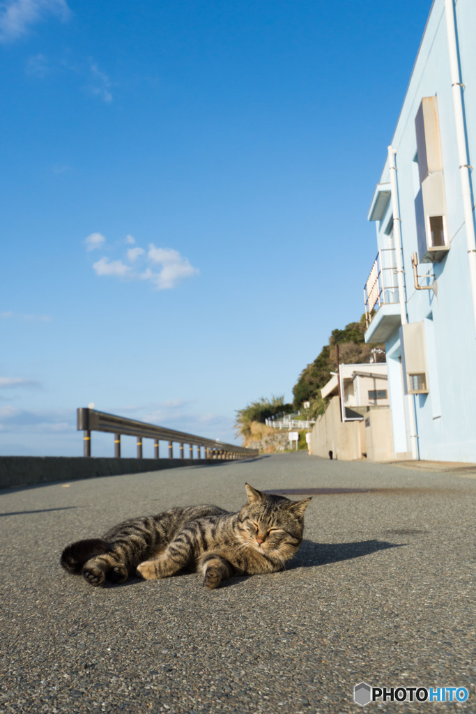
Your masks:
[{"label": "brown tabby cat lying on its side on the road", "polygon": [[238,513],[188,506],[124,521],[103,538],[68,545],[61,565],[70,573],[82,573],[91,585],[103,585],[106,578],[124,583],[134,572],[145,580],[167,578],[192,568],[209,589],[231,575],[283,570],[303,540],[310,498],[290,501],[248,483],[246,493],[248,502]]}]

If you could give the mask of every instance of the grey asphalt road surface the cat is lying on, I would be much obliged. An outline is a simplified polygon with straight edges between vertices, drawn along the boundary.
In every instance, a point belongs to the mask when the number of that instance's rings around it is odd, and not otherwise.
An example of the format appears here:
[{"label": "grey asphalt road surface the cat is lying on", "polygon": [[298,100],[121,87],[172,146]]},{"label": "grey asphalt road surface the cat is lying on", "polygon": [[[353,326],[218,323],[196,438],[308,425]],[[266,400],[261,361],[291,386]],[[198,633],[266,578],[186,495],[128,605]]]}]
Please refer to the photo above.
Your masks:
[{"label": "grey asphalt road surface the cat is lying on", "polygon": [[[470,691],[369,713],[475,713],[474,478],[300,452],[1,491],[0,710],[347,714],[365,682]],[[92,588],[59,565],[66,543],[131,516],[238,510],[245,481],[330,491],[283,573]]]}]

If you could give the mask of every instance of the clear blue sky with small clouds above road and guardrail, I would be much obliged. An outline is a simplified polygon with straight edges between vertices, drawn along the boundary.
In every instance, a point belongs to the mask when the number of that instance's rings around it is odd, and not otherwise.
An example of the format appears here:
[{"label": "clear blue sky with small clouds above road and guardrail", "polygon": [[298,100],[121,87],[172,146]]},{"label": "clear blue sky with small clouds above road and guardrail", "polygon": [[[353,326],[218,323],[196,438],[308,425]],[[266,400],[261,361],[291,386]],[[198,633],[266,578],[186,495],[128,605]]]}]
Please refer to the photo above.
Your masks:
[{"label": "clear blue sky with small clouds above road and guardrail", "polygon": [[88,403],[234,441],[292,399],[363,313],[430,5],[0,1],[0,454],[81,455]]}]

